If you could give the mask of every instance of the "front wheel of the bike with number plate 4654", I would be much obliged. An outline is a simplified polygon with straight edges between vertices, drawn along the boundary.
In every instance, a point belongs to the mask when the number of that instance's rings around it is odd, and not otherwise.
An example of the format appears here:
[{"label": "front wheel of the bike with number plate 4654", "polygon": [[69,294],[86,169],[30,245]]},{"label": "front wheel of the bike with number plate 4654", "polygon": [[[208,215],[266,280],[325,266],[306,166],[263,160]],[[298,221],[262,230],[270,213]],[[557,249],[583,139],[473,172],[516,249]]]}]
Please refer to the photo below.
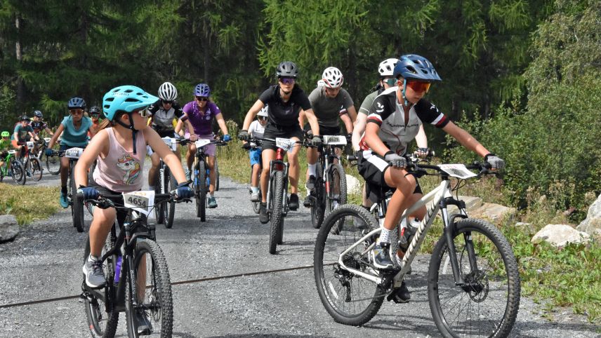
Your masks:
[{"label": "front wheel of the bike with number plate 4654", "polygon": [[[173,298],[171,279],[163,251],[154,241],[138,240],[133,257],[133,283],[128,281],[126,294],[126,321],[128,337],[147,335],[150,337],[171,337],[173,330]],[[129,273],[127,273],[129,278]],[[136,302],[133,302],[133,300]],[[136,304],[134,306],[133,304]],[[147,318],[150,330],[140,332],[138,318]]]}]

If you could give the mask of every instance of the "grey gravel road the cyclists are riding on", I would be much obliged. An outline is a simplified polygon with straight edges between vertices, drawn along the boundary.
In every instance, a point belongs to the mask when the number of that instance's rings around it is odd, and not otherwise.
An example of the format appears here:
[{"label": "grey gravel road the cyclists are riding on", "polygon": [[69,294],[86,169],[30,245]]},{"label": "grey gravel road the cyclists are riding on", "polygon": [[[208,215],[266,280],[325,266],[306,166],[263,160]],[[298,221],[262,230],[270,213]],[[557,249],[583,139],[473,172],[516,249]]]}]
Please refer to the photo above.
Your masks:
[{"label": "grey gravel road the cyclists are riding on", "polygon": [[[55,178],[43,184],[58,184]],[[57,196],[58,197],[58,196]],[[157,227],[172,283],[307,266],[254,276],[173,285],[174,337],[439,337],[425,289],[428,257],[418,257],[408,280],[409,304],[385,302],[362,327],[334,323],[319,301],[312,265],[317,231],[307,209],[291,212],[284,245],[268,253],[268,224],[252,211],[246,187],[222,177],[219,207],[207,222],[194,217],[193,203],[176,208],[173,229]],[[87,213],[87,212],[86,212]],[[86,227],[90,218],[86,215]],[[81,256],[86,233],[72,227],[70,211],[31,224],[0,245],[0,337],[87,337],[84,306],[77,298],[6,307],[7,304],[81,292]],[[601,337],[570,309],[544,313],[522,297],[513,337]],[[543,317],[543,315],[545,315]],[[548,320],[549,316],[553,320]],[[118,337],[126,337],[121,316]]]}]

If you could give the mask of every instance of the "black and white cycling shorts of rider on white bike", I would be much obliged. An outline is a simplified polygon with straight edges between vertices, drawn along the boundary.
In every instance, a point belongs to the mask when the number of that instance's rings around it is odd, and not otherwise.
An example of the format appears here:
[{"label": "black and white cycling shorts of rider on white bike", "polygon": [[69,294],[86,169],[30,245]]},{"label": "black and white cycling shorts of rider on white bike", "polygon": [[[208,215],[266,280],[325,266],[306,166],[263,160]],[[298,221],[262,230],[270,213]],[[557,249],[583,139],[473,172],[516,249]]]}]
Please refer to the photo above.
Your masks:
[{"label": "black and white cycling shorts of rider on white bike", "polygon": [[[388,187],[388,184],[384,180],[384,173],[388,167],[390,167],[390,164],[380,156],[372,154],[371,150],[359,152],[357,169],[359,170],[359,175],[365,180],[366,196],[374,203],[378,203],[383,194],[395,190],[395,188]],[[422,194],[417,177],[414,194]]]}]

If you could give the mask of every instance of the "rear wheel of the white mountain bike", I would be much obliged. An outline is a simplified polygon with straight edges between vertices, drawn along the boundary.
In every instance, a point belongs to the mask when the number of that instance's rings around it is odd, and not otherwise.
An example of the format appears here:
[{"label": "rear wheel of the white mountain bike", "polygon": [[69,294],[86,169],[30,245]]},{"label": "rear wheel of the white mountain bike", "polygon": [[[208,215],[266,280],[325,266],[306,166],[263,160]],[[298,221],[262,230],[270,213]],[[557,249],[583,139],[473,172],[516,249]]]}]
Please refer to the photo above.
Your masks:
[{"label": "rear wheel of the white mountain bike", "polygon": [[[332,236],[331,228],[338,222],[344,222],[343,231]],[[375,229],[376,224],[376,219],[359,205],[342,205],[326,217],[319,229],[313,255],[315,285],[319,299],[337,323],[355,326],[367,323],[378,313],[386,296],[380,285],[347,269],[378,276],[369,258],[378,235],[366,238],[341,257]]]}]

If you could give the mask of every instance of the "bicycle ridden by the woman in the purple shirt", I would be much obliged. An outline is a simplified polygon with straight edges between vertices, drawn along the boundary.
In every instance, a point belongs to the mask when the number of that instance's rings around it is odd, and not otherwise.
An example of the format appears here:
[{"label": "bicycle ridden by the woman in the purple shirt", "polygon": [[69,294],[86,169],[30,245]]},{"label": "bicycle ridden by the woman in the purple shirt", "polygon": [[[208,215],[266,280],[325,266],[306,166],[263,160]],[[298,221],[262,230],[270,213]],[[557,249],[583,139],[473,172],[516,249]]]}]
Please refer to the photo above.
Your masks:
[{"label": "bicycle ridden by the woman in the purple shirt", "polygon": [[[192,141],[181,140],[180,144],[185,145]],[[192,170],[192,185],[194,186],[194,196],[196,199],[196,217],[200,217],[200,222],[206,222],[206,192],[209,191],[209,167],[206,165],[206,154],[204,147],[207,144],[217,144],[223,146],[227,142],[222,140],[201,139],[194,142],[196,144],[196,155],[194,156],[194,169]]]}]

